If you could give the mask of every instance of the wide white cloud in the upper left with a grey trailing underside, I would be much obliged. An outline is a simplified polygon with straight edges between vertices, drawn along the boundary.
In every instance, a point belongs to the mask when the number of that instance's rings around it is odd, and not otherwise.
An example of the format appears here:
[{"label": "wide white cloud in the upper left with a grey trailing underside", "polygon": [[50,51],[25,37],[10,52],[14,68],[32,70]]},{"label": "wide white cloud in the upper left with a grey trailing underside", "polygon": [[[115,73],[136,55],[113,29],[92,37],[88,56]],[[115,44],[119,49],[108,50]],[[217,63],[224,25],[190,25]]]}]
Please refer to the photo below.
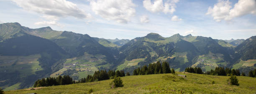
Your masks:
[{"label": "wide white cloud in the upper left with a grey trailing underside", "polygon": [[[89,13],[84,12],[76,4],[67,0],[12,0],[24,10],[43,14],[43,18],[49,21],[36,22],[36,25],[57,25],[60,17],[76,17],[79,19],[90,18]],[[40,23],[40,24],[39,24]],[[57,25],[60,26],[60,25]]]}]

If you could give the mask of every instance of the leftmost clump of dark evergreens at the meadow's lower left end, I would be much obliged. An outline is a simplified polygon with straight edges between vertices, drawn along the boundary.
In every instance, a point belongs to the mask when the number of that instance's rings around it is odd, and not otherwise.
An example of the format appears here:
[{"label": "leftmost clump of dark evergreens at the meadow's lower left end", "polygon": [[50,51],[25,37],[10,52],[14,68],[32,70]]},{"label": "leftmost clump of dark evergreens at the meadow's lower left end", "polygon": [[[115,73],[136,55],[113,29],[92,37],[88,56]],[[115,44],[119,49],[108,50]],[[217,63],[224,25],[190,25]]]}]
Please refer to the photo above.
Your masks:
[{"label": "leftmost clump of dark evergreens at the meadow's lower left end", "polygon": [[48,77],[43,79],[38,79],[34,87],[48,87],[48,86],[57,86],[57,85],[66,85],[66,84],[73,84],[75,81],[72,80],[71,77],[68,75],[64,75],[63,77]]}]

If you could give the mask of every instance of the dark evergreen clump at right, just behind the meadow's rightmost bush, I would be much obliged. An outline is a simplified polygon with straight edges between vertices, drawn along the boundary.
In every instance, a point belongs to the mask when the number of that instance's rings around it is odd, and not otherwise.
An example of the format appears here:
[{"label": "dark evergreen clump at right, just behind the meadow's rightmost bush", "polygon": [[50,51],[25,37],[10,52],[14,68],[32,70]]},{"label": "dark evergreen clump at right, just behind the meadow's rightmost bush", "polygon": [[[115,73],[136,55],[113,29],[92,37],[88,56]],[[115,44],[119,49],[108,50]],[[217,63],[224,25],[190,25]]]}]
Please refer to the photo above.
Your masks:
[{"label": "dark evergreen clump at right, just behind the meadow's rightmost bush", "polygon": [[210,71],[205,72],[205,74],[209,75],[220,75],[220,76],[240,76],[240,71],[238,69],[230,69],[224,67],[215,67],[215,69],[211,69]]}]

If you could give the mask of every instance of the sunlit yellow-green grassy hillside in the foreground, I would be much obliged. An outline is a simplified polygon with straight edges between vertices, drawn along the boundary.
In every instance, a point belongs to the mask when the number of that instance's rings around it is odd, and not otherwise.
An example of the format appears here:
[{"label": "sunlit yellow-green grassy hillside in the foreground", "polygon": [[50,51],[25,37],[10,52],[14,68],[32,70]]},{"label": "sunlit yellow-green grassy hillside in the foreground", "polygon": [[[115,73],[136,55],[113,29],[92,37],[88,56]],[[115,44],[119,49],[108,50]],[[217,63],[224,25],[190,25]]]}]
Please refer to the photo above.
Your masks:
[{"label": "sunlit yellow-green grassy hillside in the foreground", "polygon": [[[113,79],[71,84],[63,86],[42,87],[36,90],[13,90],[5,91],[5,94],[27,94],[36,92],[38,94],[84,94],[89,89],[94,89],[93,93],[117,94],[117,93],[227,93],[227,94],[253,94],[256,93],[256,78],[239,76],[239,86],[227,84],[228,76],[213,76],[205,74],[177,74],[186,75],[186,78],[175,74],[151,74],[121,77],[124,87],[110,89],[109,83]],[[215,81],[215,84],[212,84]]]}]

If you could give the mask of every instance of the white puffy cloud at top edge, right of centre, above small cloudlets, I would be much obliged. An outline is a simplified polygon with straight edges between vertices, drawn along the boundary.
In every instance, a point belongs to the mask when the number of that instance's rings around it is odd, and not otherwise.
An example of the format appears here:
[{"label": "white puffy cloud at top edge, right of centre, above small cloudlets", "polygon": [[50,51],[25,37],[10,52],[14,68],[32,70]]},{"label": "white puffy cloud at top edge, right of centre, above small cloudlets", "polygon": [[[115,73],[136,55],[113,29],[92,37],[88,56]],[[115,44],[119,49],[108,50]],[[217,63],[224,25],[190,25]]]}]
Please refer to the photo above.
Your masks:
[{"label": "white puffy cloud at top edge, right of centre, above small cloudlets", "polygon": [[177,2],[179,2],[179,0],[167,0],[166,2],[163,2],[163,0],[154,0],[153,3],[151,2],[151,0],[144,0],[143,7],[153,13],[164,12],[165,14],[172,14],[175,11],[175,4]]}]

